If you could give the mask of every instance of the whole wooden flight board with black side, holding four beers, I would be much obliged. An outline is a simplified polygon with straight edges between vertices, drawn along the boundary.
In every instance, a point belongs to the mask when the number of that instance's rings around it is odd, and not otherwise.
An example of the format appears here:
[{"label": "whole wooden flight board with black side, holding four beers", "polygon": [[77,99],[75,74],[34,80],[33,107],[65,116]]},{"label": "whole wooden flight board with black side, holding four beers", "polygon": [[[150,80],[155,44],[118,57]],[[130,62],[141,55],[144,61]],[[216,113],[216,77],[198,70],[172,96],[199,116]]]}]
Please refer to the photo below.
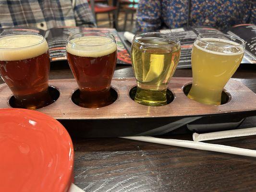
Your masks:
[{"label": "whole wooden flight board with black side, holding four beers", "polygon": [[[72,133],[83,132],[79,133],[83,137],[147,135],[152,129],[189,117],[225,119],[225,115],[229,115],[230,119],[242,120],[256,115],[256,94],[244,84],[231,79],[224,87],[230,100],[210,106],[191,100],[183,93],[184,85],[191,82],[192,78],[171,78],[168,89],[174,95],[173,101],[166,106],[148,107],[135,103],[129,96],[136,86],[134,78],[113,78],[111,86],[118,94],[114,103],[103,108],[82,108],[71,99],[78,89],[74,79],[49,80],[49,85],[56,87],[60,96],[53,104],[37,110],[59,120]],[[11,108],[8,102],[11,96],[9,87],[0,84],[0,108]],[[181,124],[186,124],[184,122]]]}]

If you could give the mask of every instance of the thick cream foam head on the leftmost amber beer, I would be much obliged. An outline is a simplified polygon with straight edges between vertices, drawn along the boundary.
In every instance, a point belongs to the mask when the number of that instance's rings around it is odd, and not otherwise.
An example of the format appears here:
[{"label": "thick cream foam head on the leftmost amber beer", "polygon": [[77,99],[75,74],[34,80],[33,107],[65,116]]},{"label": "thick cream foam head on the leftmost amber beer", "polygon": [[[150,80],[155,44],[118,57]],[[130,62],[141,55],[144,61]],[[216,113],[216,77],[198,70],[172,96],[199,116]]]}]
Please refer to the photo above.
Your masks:
[{"label": "thick cream foam head on the leftmost amber beer", "polygon": [[43,36],[22,34],[0,37],[0,60],[25,60],[42,55],[47,50]]}]

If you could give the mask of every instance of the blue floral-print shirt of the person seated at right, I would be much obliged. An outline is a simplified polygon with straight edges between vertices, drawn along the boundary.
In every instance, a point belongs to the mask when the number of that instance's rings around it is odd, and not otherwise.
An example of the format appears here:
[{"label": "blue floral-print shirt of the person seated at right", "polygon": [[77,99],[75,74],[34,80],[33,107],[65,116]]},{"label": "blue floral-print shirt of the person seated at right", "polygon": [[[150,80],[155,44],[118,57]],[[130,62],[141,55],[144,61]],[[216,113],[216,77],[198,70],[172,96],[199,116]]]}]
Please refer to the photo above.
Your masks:
[{"label": "blue floral-print shirt of the person seated at right", "polygon": [[[189,0],[140,0],[137,31],[156,31],[187,25]],[[191,0],[190,26],[227,30],[235,24],[256,24],[256,0]]]}]

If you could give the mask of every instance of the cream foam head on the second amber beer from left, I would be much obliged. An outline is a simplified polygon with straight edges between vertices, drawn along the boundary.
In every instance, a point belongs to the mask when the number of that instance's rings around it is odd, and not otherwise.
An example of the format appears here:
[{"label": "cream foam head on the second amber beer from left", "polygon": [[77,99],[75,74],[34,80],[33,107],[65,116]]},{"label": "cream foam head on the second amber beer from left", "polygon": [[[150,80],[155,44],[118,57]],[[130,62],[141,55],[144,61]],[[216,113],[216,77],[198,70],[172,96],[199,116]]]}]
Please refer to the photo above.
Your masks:
[{"label": "cream foam head on the second amber beer from left", "polygon": [[72,55],[97,58],[116,51],[116,44],[104,36],[82,36],[70,40],[66,50]]}]

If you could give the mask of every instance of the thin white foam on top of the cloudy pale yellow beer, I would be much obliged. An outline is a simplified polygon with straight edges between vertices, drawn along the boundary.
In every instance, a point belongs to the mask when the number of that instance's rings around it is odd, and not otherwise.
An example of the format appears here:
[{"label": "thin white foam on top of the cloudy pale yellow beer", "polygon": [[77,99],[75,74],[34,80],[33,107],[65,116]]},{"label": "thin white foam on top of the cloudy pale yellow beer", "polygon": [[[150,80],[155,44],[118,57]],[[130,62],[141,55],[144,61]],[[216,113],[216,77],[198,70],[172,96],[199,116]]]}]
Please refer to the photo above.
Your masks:
[{"label": "thin white foam on top of the cloudy pale yellow beer", "polygon": [[[202,40],[202,41],[200,41]],[[201,38],[200,40],[196,40],[194,45],[196,48],[202,50],[202,51],[205,51],[207,53],[212,53],[212,54],[216,54],[216,55],[226,55],[226,56],[232,56],[232,55],[240,55],[244,52],[244,48],[243,48],[243,45],[239,44],[239,43],[236,43],[234,41],[231,41],[231,40],[227,40],[227,39],[220,39],[220,38]],[[210,45],[215,45],[213,44],[212,42],[217,42],[216,43],[216,48],[220,50],[222,50],[222,52],[219,52],[219,51],[214,51],[214,50],[209,50],[209,48],[203,48],[201,46],[198,46],[198,43],[202,42],[203,44],[206,44],[205,42],[211,42]],[[238,48],[239,51],[238,52],[230,52],[228,50],[228,46],[230,45],[230,48]]]}]

